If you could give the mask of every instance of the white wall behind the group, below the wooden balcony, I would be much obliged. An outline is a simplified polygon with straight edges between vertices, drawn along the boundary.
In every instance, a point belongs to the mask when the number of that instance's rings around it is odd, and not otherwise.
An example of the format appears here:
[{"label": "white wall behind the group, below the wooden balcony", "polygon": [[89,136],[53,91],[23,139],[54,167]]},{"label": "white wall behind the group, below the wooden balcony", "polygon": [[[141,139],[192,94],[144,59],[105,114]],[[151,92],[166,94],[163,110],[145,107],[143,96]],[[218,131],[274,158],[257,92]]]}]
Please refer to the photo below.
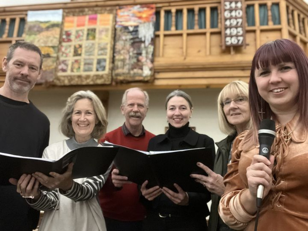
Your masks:
[{"label": "white wall behind the group, below the wooden balcony", "polygon": [[[186,91],[193,100],[193,115],[190,126],[196,127],[196,131],[206,134],[215,142],[225,137],[218,129],[216,99],[221,89],[187,89]],[[144,127],[158,135],[164,133],[168,126],[164,101],[172,90],[149,90],[149,111],[144,120]],[[65,137],[59,132],[59,122],[62,109],[67,98],[75,90],[45,90],[31,91],[30,100],[43,111],[50,120],[51,133],[50,144],[63,140]],[[111,91],[109,95],[108,128],[111,131],[124,123],[124,116],[120,112],[120,104],[124,91]]]}]

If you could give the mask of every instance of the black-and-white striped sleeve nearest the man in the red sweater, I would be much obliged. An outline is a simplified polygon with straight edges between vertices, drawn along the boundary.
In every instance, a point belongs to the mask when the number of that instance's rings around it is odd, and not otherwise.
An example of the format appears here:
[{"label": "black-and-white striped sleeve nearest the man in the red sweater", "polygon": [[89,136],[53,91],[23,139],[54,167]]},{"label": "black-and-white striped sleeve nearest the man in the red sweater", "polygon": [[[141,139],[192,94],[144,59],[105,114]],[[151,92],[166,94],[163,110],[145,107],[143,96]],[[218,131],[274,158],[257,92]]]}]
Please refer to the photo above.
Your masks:
[{"label": "black-and-white striped sleeve nearest the man in the red sweater", "polygon": [[88,177],[82,184],[73,182],[73,186],[68,191],[59,189],[59,192],[74,201],[87,201],[95,197],[103,187],[111,170],[112,164],[103,175]]}]

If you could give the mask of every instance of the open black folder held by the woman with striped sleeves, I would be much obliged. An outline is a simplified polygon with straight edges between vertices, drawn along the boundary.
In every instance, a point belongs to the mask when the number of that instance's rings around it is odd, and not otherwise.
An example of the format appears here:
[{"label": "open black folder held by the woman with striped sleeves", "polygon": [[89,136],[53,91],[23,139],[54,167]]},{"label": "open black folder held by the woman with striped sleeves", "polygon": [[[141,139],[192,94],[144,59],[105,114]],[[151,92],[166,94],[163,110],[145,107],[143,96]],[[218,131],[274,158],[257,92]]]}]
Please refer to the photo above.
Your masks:
[{"label": "open black folder held by the woman with striped sleeves", "polygon": [[23,173],[62,174],[71,162],[74,162],[73,179],[102,175],[109,168],[118,149],[117,147],[76,148],[67,152],[59,160],[0,153],[0,185],[11,185],[9,178],[19,179]]}]

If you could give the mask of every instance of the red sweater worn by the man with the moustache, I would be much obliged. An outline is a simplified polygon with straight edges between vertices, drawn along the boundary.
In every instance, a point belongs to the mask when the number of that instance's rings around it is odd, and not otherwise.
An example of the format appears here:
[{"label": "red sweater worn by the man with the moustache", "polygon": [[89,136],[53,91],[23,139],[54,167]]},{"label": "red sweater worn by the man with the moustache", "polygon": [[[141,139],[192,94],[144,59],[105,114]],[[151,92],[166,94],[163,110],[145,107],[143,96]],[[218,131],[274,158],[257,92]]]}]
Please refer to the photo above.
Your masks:
[{"label": "red sweater worn by the man with the moustache", "polygon": [[[107,140],[113,144],[122,145],[141,151],[146,151],[149,140],[155,135],[145,131],[141,137],[124,136],[122,127],[108,132],[101,142]],[[111,170],[112,171],[112,170]],[[103,188],[99,191],[99,202],[104,217],[118,221],[141,221],[145,216],[145,208],[139,201],[137,184],[124,184],[121,190],[116,190],[111,180],[111,171]]]}]

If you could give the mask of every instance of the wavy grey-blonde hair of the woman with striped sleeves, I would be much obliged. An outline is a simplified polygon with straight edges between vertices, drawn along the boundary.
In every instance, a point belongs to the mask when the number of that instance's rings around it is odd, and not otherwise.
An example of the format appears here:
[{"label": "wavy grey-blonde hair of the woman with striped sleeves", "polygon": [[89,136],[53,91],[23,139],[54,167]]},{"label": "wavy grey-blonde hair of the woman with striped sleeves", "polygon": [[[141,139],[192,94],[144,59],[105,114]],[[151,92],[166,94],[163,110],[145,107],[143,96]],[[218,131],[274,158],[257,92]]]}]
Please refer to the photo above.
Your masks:
[{"label": "wavy grey-blonde hair of the woman with striped sleeves", "polygon": [[92,138],[100,139],[106,133],[108,122],[103,103],[92,91],[77,91],[67,99],[66,107],[63,110],[63,115],[60,123],[61,132],[63,133],[63,135],[69,138],[75,135],[72,126],[72,114],[75,103],[79,99],[89,99],[92,102],[98,123],[95,124],[91,136]]}]

